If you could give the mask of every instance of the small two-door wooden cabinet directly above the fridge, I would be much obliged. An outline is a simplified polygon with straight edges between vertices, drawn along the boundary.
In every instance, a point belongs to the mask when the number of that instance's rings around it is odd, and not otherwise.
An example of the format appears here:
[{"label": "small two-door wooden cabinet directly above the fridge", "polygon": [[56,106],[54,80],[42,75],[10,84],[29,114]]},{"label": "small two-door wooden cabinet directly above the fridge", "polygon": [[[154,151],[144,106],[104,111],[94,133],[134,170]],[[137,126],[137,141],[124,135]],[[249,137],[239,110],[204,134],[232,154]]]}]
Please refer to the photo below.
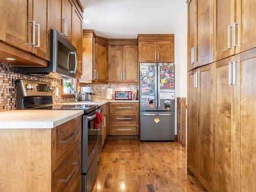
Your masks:
[{"label": "small two-door wooden cabinet directly above the fridge", "polygon": [[140,62],[174,62],[174,41],[139,41]]}]

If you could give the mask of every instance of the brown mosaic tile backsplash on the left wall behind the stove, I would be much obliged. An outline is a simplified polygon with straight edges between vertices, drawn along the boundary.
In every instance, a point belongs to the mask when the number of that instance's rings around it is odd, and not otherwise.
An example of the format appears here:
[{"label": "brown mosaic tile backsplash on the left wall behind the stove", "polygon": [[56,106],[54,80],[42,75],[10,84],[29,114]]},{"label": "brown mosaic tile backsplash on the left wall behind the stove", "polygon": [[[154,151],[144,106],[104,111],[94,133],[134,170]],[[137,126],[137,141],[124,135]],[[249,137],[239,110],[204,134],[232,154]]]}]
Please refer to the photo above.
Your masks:
[{"label": "brown mosaic tile backsplash on the left wall behind the stove", "polygon": [[9,65],[0,63],[0,112],[16,109],[16,84],[17,79],[32,79],[51,82],[53,87],[58,87],[59,94],[53,96],[54,103],[69,102],[74,99],[62,99],[60,96],[61,80],[38,78],[30,75],[16,74]]}]

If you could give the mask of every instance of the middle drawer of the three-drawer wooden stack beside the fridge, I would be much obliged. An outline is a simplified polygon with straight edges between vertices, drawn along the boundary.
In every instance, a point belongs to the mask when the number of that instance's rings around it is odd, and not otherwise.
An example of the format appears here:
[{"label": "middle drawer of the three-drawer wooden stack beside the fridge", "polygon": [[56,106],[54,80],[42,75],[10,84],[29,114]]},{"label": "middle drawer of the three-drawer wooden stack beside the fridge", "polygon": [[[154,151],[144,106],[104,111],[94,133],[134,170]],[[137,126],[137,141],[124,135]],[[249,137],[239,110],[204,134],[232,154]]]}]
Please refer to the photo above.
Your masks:
[{"label": "middle drawer of the three-drawer wooden stack beside the fridge", "polygon": [[126,114],[126,115],[118,115],[111,114],[110,115],[110,123],[111,124],[138,124],[139,114]]}]

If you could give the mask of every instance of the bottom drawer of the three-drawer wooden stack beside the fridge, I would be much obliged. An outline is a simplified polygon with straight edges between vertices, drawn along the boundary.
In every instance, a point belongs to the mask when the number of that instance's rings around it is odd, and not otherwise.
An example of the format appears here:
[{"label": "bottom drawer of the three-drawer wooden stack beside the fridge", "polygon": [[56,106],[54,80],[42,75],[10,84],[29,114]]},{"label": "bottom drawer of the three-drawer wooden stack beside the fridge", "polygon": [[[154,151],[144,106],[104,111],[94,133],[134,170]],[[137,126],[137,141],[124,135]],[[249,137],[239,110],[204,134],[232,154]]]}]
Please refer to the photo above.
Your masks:
[{"label": "bottom drawer of the three-drawer wooden stack beside the fridge", "polygon": [[111,124],[110,135],[138,135],[138,126],[137,124]]}]

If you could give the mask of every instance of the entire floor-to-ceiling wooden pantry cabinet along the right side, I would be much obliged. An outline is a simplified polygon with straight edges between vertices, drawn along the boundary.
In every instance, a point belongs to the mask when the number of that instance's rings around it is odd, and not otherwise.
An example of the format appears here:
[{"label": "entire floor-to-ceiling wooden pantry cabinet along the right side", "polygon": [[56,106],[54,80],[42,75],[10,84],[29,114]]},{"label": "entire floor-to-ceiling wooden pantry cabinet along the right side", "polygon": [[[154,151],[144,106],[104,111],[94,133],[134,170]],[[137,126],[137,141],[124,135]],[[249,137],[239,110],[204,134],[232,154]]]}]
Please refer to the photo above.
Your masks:
[{"label": "entire floor-to-ceiling wooden pantry cabinet along the right side", "polygon": [[[188,50],[196,47],[188,51],[188,173],[208,191],[256,191],[256,2],[209,1],[214,23],[205,17],[212,26],[199,34],[198,11],[207,2],[187,2]],[[201,67],[203,36],[213,49],[212,63]]]}]

